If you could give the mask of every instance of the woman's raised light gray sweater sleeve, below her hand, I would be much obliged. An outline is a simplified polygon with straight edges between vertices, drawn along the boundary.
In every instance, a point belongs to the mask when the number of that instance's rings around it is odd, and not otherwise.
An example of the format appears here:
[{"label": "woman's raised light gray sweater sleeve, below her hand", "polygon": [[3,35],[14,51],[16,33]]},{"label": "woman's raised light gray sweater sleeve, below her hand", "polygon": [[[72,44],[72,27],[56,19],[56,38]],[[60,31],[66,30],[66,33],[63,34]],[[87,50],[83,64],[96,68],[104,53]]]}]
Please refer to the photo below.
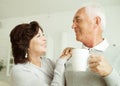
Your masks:
[{"label": "woman's raised light gray sweater sleeve, below her hand", "polygon": [[64,71],[66,61],[67,59],[63,58],[57,60],[51,86],[65,86]]}]

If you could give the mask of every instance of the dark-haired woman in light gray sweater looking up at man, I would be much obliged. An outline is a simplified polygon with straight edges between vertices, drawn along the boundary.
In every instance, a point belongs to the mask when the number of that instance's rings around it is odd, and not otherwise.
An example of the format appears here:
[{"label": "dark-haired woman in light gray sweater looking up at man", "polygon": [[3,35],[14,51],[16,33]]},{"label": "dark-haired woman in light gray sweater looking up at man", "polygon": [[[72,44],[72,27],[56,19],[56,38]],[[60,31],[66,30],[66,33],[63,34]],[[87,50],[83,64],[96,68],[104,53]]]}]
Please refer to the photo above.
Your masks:
[{"label": "dark-haired woman in light gray sweater looking up at man", "polygon": [[10,33],[10,41],[15,63],[11,86],[64,86],[64,64],[70,50],[63,51],[56,63],[42,57],[46,38],[36,21],[17,25]]}]

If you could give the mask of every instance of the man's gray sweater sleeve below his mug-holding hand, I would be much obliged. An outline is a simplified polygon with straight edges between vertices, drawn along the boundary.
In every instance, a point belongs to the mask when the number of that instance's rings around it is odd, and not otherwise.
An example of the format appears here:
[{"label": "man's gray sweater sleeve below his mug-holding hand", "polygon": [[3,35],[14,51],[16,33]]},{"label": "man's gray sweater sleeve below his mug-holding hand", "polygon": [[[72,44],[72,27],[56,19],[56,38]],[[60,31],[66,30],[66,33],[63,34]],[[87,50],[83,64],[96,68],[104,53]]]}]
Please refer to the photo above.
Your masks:
[{"label": "man's gray sweater sleeve below his mug-holding hand", "polygon": [[110,75],[104,77],[104,80],[107,86],[120,86],[120,75],[115,69],[112,70]]}]

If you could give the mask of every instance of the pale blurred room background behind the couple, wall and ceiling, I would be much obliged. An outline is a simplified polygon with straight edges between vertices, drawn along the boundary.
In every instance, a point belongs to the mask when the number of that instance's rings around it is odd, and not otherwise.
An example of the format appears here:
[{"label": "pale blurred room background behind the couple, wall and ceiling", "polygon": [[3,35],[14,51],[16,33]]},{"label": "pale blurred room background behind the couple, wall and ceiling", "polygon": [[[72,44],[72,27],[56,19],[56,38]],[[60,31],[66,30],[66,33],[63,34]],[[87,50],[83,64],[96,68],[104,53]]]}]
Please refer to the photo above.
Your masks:
[{"label": "pale blurred room background behind the couple, wall and ceiling", "polygon": [[120,48],[120,0],[0,0],[0,86],[10,83],[14,64],[9,33],[16,25],[38,21],[47,37],[46,57],[56,60],[65,47],[81,47],[71,26],[75,12],[86,3],[104,7],[107,25],[103,35]]}]

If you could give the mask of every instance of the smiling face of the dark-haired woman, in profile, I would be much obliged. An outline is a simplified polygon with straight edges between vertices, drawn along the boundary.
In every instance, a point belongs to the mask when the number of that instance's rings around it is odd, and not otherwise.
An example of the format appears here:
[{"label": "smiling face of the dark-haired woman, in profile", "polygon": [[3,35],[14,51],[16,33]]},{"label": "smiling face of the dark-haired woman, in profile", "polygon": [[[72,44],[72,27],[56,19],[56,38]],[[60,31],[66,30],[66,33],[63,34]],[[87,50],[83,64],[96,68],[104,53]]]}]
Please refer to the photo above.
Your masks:
[{"label": "smiling face of the dark-haired woman, in profile", "polygon": [[28,48],[29,55],[42,56],[46,52],[46,38],[39,29],[38,33],[31,39]]}]

